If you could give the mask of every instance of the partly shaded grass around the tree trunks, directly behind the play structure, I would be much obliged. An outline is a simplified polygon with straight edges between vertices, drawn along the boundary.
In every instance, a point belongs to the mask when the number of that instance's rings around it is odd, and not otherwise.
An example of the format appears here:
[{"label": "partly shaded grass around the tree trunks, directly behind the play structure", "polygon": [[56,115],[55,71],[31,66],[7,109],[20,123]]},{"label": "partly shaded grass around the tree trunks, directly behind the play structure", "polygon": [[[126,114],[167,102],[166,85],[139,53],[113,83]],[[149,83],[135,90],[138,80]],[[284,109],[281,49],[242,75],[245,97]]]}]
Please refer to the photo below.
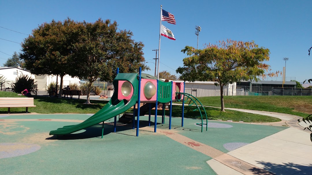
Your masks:
[{"label": "partly shaded grass around the tree trunks, directly behind the play structure", "polygon": [[[25,97],[19,96],[13,92],[0,91],[0,97]],[[27,98],[27,97],[25,97]],[[28,108],[30,113],[96,113],[107,103],[107,101],[90,100],[92,105],[83,104],[85,99],[58,99],[48,96],[33,96],[34,104],[36,107]],[[186,118],[200,118],[198,111],[193,111],[192,106],[185,106],[184,117]],[[280,119],[275,117],[268,117],[257,114],[243,113],[239,111],[230,111],[222,113],[217,108],[205,108],[208,119],[217,120],[233,120],[244,122],[278,122]],[[25,113],[25,108],[11,108],[11,113]],[[131,112],[132,110],[128,110]],[[7,108],[0,108],[0,113],[7,113]],[[154,114],[154,111],[152,111]],[[165,111],[166,115],[169,115],[168,111]],[[158,110],[158,115],[162,115],[162,111]],[[182,107],[173,106],[172,116],[182,117]]]}]

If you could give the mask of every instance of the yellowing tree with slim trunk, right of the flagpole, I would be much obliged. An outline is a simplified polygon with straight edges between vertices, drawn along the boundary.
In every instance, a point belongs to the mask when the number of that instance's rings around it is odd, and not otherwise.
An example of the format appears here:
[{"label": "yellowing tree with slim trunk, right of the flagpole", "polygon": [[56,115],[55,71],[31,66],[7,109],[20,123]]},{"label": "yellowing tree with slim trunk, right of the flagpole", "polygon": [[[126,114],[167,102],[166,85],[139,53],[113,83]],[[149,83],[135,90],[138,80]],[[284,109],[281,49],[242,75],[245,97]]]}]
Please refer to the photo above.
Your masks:
[{"label": "yellowing tree with slim trunk, right of the flagpole", "polygon": [[269,61],[270,50],[259,48],[254,41],[227,39],[218,44],[208,44],[204,49],[185,46],[181,52],[187,53],[188,57],[183,59],[184,67],[178,67],[176,72],[181,74],[184,81],[217,81],[221,92],[221,111],[225,111],[223,87],[226,84],[242,80],[258,81],[259,76],[279,73],[267,73],[270,66],[264,62]]}]

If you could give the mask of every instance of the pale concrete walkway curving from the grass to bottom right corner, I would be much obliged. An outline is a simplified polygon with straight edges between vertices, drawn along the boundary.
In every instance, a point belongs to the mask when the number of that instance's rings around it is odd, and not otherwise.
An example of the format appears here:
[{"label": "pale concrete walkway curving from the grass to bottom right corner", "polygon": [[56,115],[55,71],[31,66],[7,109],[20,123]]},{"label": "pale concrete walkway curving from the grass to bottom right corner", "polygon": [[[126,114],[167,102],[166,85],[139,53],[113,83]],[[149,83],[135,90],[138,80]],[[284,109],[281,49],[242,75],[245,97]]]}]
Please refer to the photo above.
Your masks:
[{"label": "pale concrete walkway curving from the grass to bottom right corner", "polygon": [[[308,130],[303,131],[304,128],[297,121],[302,117],[267,111],[226,109],[277,117],[290,128],[227,153],[236,160],[224,158],[219,161],[216,159],[207,161],[217,174],[312,174],[310,132]],[[250,167],[248,164],[262,168],[266,172],[258,172],[254,168],[248,168]]]}]

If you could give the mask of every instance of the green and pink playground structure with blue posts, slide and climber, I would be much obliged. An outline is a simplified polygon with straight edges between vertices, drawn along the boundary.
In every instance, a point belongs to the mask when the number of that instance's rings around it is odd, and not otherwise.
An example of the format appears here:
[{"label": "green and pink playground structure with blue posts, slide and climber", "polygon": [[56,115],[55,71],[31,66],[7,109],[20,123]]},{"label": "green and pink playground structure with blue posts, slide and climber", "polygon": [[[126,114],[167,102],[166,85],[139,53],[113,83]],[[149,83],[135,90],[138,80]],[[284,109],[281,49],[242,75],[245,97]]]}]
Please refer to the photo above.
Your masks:
[{"label": "green and pink playground structure with blue posts, slide and climber", "polygon": [[[164,111],[165,103],[170,103],[169,108],[169,129],[171,129],[171,115],[172,115],[172,102],[182,101],[182,122],[183,127],[184,120],[184,103],[189,100],[188,105],[194,106],[193,111],[198,110],[200,112],[201,123],[197,123],[202,126],[206,125],[207,131],[207,114],[205,108],[200,101],[191,94],[184,93],[184,82],[163,82],[154,79],[141,78],[141,67],[139,68],[139,74],[137,73],[119,73],[117,68],[117,76],[113,81],[115,87],[114,94],[110,101],[97,113],[88,118],[82,123],[76,125],[64,126],[57,130],[50,131],[50,135],[65,135],[71,134],[76,131],[80,131],[87,127],[97,125],[102,122],[102,138],[104,132],[104,121],[114,117],[114,132],[116,132],[117,115],[126,112],[129,108],[134,107],[132,117],[132,127],[135,128],[135,116],[136,120],[136,136],[139,136],[139,117],[149,113],[149,126],[151,121],[151,109],[158,104],[163,104],[163,116],[162,123],[164,123]],[[185,98],[187,97],[187,98]],[[140,103],[144,103],[143,106],[139,106]],[[136,109],[138,104],[138,109]],[[203,123],[203,116],[206,117],[206,123]],[[157,108],[155,109],[154,120],[154,132],[157,129]]]}]

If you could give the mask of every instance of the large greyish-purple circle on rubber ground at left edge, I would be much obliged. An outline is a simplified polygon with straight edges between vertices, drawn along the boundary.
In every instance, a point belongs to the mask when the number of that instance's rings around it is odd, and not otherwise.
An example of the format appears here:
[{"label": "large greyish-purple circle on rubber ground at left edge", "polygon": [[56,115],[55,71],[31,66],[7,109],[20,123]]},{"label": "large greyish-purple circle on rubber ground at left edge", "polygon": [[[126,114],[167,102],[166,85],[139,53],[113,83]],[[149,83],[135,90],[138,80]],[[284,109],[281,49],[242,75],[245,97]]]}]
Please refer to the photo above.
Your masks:
[{"label": "large greyish-purple circle on rubber ground at left edge", "polygon": [[0,143],[0,159],[29,154],[40,148],[40,145],[32,143]]}]

